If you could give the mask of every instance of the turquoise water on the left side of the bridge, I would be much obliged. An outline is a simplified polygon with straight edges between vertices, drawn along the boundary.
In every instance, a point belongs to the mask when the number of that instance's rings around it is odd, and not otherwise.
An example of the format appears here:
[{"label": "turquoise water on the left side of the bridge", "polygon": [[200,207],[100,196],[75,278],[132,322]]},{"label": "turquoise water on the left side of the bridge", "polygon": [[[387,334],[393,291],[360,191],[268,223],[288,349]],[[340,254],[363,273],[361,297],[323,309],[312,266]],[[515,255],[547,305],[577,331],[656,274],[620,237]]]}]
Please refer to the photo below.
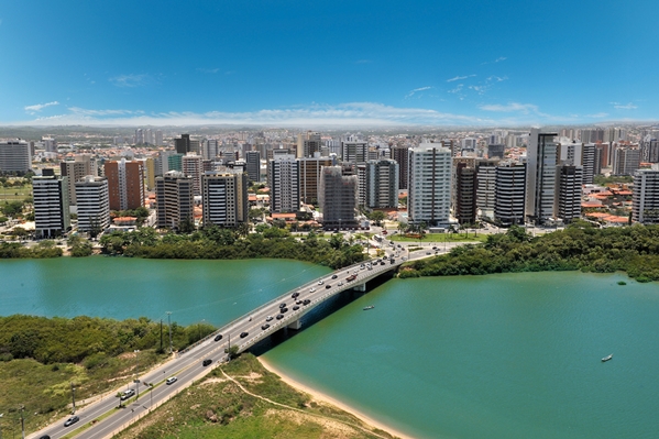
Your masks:
[{"label": "turquoise water on the left side of the bridge", "polygon": [[330,270],[281,260],[0,261],[0,316],[145,316],[221,326]]}]

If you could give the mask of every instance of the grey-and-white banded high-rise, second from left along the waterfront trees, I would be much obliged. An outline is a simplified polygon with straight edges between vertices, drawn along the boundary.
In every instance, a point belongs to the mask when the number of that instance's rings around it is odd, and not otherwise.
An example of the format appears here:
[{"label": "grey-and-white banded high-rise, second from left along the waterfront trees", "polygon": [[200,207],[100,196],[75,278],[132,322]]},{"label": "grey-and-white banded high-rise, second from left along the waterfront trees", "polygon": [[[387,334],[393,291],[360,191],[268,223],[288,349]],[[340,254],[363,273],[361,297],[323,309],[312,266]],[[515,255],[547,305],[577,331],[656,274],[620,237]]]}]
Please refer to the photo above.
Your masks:
[{"label": "grey-and-white banded high-rise, second from left along the waterfront trees", "polygon": [[108,178],[87,175],[75,183],[78,230],[98,234],[110,226]]}]

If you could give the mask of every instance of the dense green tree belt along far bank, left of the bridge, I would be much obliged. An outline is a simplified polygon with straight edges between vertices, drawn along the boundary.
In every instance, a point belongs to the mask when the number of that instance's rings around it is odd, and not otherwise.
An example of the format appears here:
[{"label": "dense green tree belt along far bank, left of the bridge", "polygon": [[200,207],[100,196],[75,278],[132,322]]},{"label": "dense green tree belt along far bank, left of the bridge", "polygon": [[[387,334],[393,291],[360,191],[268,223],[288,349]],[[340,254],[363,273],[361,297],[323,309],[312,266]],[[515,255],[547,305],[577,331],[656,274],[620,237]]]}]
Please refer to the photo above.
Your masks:
[{"label": "dense green tree belt along far bank, left of the bridge", "polygon": [[109,255],[123,254],[150,259],[254,259],[274,257],[308,261],[339,268],[363,261],[363,248],[352,244],[341,234],[329,240],[309,232],[305,239],[295,238],[284,229],[257,227],[246,237],[239,231],[217,227],[191,234],[167,233],[160,237],[151,228],[135,232],[106,234],[100,240],[102,251]]}]

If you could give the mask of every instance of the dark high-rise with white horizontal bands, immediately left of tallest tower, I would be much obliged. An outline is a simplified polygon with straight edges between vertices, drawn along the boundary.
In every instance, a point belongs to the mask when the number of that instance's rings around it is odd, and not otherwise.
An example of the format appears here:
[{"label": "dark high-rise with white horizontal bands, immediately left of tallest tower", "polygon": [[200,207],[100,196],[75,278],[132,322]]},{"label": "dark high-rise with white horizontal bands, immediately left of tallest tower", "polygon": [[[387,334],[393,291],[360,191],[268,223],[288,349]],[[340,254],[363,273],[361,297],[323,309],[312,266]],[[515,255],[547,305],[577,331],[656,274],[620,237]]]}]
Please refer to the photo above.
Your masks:
[{"label": "dark high-rise with white horizontal bands, immediately left of tallest tower", "polygon": [[496,167],[494,221],[502,227],[524,224],[527,166],[502,163]]}]

